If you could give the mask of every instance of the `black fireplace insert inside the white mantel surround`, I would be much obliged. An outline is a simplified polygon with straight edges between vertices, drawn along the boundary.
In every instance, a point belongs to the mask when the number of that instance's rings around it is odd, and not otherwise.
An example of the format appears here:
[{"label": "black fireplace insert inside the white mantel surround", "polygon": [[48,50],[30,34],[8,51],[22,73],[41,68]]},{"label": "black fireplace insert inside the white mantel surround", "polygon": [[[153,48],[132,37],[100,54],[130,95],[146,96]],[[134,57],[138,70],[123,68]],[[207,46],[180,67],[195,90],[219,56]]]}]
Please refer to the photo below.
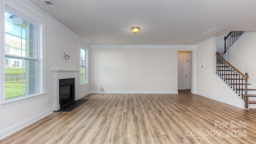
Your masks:
[{"label": "black fireplace insert inside the white mantel surround", "polygon": [[75,100],[74,99],[75,79],[74,78],[61,79],[59,81],[59,84],[60,84],[60,89],[59,89],[60,107],[63,107]]}]

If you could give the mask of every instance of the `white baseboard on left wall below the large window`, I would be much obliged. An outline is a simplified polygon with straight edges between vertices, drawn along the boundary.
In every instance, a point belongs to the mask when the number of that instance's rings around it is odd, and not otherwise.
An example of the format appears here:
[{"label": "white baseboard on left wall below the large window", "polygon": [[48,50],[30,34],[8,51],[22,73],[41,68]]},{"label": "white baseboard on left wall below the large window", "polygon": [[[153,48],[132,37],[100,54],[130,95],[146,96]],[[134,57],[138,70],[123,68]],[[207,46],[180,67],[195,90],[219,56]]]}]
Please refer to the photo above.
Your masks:
[{"label": "white baseboard on left wall below the large window", "polygon": [[34,117],[31,117],[25,121],[22,121],[20,123],[17,123],[16,125],[13,125],[9,128],[6,128],[2,131],[0,131],[0,140],[5,138],[6,136],[9,136],[10,134],[13,134],[14,132],[38,121],[39,119],[42,119],[43,117],[46,117],[47,115],[50,115],[52,112],[54,111],[54,109],[48,109],[47,111],[44,111],[38,115],[35,115]]}]

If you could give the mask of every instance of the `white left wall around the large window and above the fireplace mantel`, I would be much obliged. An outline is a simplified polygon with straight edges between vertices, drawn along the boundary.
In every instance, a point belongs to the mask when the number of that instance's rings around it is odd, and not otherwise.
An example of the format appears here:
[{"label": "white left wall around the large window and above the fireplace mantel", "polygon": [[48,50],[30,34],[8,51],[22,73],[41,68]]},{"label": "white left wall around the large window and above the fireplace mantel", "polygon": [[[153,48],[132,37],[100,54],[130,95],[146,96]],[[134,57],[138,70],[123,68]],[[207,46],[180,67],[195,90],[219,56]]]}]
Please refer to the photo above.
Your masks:
[{"label": "white left wall around the large window and above the fireplace mantel", "polygon": [[[70,32],[63,25],[54,22],[49,16],[44,15],[44,12],[36,10],[34,6],[30,6],[26,1],[6,0],[1,2],[2,4],[6,2],[6,5],[14,8],[17,12],[20,12],[20,14],[33,19],[36,23],[42,24],[44,27],[43,32],[45,39],[43,48],[45,51],[45,67],[43,72],[45,74],[46,94],[38,99],[1,108],[0,139],[52,113],[54,107],[52,69],[79,70],[80,44],[88,45],[77,38],[74,33]],[[1,5],[1,16],[4,16],[3,8],[4,6]],[[70,56],[69,60],[64,60],[64,51]],[[78,94],[79,96],[86,95],[89,93],[89,90],[89,84],[79,86]],[[50,103],[47,103],[47,98],[50,98]]]}]

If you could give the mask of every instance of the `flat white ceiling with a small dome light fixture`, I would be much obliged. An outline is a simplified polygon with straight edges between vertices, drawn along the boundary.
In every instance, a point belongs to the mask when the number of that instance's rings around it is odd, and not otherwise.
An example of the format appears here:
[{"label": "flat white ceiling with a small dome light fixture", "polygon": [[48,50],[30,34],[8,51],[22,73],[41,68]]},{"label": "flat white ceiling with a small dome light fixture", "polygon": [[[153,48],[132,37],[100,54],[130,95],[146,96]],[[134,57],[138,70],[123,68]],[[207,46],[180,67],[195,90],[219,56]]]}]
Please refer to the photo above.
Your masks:
[{"label": "flat white ceiling with a small dome light fixture", "polygon": [[[90,45],[195,45],[256,31],[256,0],[50,0],[58,8],[29,1]],[[202,35],[215,27],[228,29]]]}]

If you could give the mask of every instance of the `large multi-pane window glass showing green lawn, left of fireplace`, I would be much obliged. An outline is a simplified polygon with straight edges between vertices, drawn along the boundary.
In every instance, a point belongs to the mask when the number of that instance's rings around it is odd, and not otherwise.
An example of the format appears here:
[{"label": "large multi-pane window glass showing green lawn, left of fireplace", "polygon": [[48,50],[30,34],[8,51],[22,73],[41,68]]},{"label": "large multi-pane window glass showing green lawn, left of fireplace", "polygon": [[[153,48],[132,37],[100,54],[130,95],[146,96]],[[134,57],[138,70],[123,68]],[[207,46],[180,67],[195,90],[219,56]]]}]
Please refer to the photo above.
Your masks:
[{"label": "large multi-pane window glass showing green lawn, left of fireplace", "polygon": [[5,11],[5,100],[38,93],[38,25]]}]

